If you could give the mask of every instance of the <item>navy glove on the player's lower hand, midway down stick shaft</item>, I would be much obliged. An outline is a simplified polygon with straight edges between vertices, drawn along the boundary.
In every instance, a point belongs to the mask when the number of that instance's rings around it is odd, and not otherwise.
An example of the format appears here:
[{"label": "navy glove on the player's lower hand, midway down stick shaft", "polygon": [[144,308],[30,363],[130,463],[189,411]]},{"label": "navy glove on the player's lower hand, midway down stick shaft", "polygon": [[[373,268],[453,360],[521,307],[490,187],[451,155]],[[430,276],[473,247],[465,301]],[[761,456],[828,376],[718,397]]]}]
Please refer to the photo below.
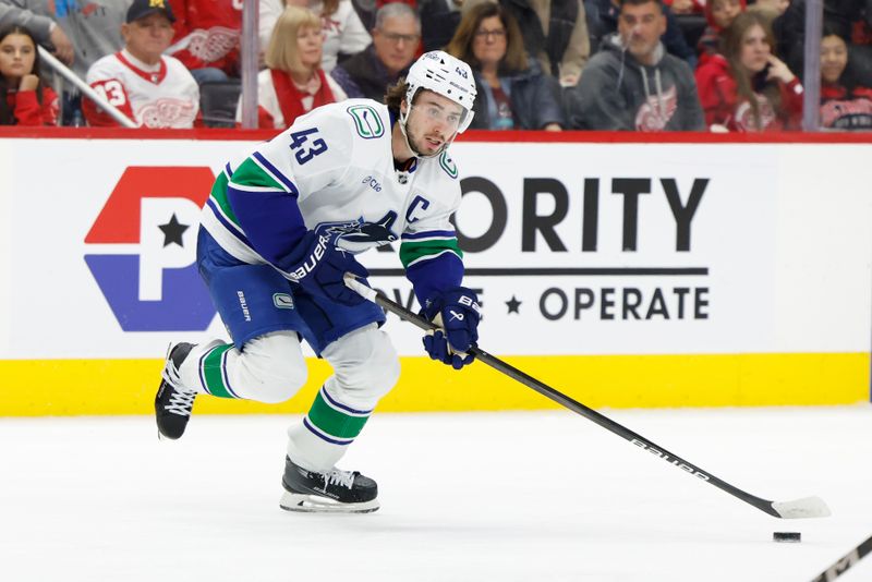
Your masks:
[{"label": "navy glove on the player's lower hand, midway down stick shaft", "polygon": [[475,359],[469,352],[479,340],[482,310],[475,291],[456,287],[427,300],[421,313],[439,326],[424,336],[424,349],[433,360],[460,369]]}]

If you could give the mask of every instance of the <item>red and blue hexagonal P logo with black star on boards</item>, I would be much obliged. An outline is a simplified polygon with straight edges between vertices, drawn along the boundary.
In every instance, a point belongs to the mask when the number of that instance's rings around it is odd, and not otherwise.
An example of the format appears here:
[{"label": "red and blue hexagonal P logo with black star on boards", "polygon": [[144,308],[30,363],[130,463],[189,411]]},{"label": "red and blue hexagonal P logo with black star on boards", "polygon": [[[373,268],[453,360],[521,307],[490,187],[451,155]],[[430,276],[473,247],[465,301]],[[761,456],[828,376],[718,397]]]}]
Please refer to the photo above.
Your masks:
[{"label": "red and blue hexagonal P logo with black star on boards", "polygon": [[124,331],[205,330],[215,306],[196,266],[208,168],[130,167],[85,237],[85,263]]}]

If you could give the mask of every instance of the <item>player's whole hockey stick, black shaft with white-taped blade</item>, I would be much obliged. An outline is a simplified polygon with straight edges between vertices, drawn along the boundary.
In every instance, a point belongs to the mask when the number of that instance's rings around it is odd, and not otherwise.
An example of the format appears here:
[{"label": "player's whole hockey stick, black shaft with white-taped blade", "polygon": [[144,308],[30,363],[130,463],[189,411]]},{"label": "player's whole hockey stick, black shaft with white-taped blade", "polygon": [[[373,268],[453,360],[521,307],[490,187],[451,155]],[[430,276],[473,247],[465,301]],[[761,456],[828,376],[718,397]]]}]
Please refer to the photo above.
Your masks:
[{"label": "player's whole hockey stick, black shaft with white-taped blade", "polygon": [[[356,291],[358,293],[360,293],[363,298],[393,313],[395,315],[400,316],[400,318],[402,319],[408,319],[409,322],[420,327],[421,329],[424,330],[438,329],[438,327],[432,322],[428,322],[427,319],[421,317],[420,315],[410,312],[402,305],[391,301],[384,293],[359,282],[351,275],[346,275],[346,284],[349,288]],[[589,421],[595,422],[606,431],[609,431],[618,435],[619,437],[629,440],[637,447],[644,449],[656,457],[659,457],[669,464],[673,464],[681,469],[682,471],[690,473],[691,475],[708,483],[710,485],[714,485],[715,487],[727,492],[734,497],[738,497],[746,504],[752,505],[755,508],[760,509],[761,511],[768,513],[770,516],[784,519],[824,518],[826,516],[829,516],[829,508],[820,497],[806,497],[792,501],[770,501],[767,499],[756,497],[737,487],[734,487],[729,483],[722,481],[720,478],[712,475],[706,471],[703,471],[702,469],[690,463],[689,461],[686,461],[685,459],[678,457],[677,454],[669,452],[659,445],[656,445],[651,440],[646,439],[645,437],[637,433],[633,433],[629,428],[625,427],[621,424],[618,424],[611,419],[604,416],[603,414],[600,414],[595,410],[585,407],[581,402],[578,402],[569,398],[568,396],[555,390],[550,386],[535,379],[534,377],[524,374],[520,369],[507,364],[502,360],[499,360],[498,357],[491,355],[481,348],[473,347],[470,351],[475,355],[475,357],[477,357],[484,364],[487,364],[488,366],[501,372],[502,374],[509,376],[510,378],[520,381],[528,388],[532,388],[542,396],[554,400],[558,404],[568,408],[572,412],[581,414]]]}]

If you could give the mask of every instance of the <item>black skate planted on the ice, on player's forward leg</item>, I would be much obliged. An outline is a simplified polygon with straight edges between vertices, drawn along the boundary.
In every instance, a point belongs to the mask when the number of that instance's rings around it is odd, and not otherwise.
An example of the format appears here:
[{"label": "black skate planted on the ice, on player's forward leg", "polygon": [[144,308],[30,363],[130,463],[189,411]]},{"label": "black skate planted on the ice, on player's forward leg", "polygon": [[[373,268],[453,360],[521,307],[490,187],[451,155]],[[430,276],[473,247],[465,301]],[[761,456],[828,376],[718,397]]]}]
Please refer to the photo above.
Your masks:
[{"label": "black skate planted on the ice, on player's forward leg", "polygon": [[368,513],[378,509],[378,486],[356,471],[307,471],[284,458],[284,494],[279,505],[288,511]]}]

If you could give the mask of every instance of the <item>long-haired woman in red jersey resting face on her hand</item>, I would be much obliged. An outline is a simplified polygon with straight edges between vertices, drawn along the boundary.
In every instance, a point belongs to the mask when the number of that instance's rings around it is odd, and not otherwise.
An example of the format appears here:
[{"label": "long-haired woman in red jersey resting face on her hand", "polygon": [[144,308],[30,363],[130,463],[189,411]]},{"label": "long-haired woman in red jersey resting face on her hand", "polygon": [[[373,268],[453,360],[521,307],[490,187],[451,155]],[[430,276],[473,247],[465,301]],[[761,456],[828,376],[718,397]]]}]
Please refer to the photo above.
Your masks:
[{"label": "long-haired woman in red jersey resting face on her hand", "polygon": [[736,16],[724,32],[722,54],[697,70],[705,121],[714,131],[799,130],[802,85],[772,53],[772,31],[754,12]]}]

